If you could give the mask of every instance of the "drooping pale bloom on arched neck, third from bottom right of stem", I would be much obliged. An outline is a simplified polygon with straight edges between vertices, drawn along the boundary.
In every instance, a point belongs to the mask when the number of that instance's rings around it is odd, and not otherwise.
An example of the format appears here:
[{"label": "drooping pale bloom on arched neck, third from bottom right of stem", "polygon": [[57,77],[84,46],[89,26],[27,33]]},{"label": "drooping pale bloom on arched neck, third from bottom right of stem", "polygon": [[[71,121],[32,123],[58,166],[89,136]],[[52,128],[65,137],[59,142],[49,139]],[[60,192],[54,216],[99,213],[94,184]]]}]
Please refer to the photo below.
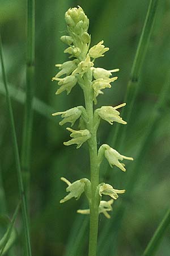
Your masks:
[{"label": "drooping pale bloom on arched neck, third from bottom right of stem", "polygon": [[99,148],[98,156],[99,156],[100,162],[101,162],[101,159],[103,158],[103,154],[105,155],[105,158],[108,160],[111,167],[117,166],[124,172],[126,171],[125,164],[120,163],[119,160],[121,160],[121,161],[124,159],[133,160],[133,158],[129,158],[128,156],[119,154],[119,152],[117,152],[116,150],[114,150],[112,147],[110,147],[107,144],[103,144]]}]

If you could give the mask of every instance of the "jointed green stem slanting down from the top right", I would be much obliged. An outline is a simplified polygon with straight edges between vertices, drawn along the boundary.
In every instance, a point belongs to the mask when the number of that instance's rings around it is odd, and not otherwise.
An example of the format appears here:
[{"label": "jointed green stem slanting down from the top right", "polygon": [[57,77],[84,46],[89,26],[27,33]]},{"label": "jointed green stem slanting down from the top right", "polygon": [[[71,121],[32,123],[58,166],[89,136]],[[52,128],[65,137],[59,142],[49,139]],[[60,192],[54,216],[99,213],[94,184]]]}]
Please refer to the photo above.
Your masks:
[{"label": "jointed green stem slanting down from the top right", "polygon": [[[139,74],[141,72],[141,67],[143,60],[145,59],[148,43],[150,41],[150,36],[152,32],[152,27],[155,20],[155,14],[158,7],[158,0],[150,0],[148,6],[145,23],[143,25],[142,34],[139,39],[137,51],[135,53],[133,65],[130,72],[130,80],[128,82],[128,87],[126,90],[126,95],[124,102],[127,103],[126,108],[122,109],[122,117],[128,122],[130,119],[131,111],[133,109],[133,104],[135,97],[137,96],[138,86],[139,86]],[[110,135],[108,141],[112,141],[112,144],[116,144],[118,138],[118,144],[121,147],[122,142],[126,137],[126,129],[122,129],[120,124],[116,124],[116,129],[114,135]]]}]

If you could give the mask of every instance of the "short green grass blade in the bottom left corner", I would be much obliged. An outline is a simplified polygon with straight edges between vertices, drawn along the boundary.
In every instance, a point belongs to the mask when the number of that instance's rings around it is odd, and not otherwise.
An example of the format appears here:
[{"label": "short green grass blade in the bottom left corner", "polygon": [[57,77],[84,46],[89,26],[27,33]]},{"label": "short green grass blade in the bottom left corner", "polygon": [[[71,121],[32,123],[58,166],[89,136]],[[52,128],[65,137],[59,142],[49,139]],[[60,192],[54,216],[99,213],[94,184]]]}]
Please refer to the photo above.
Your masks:
[{"label": "short green grass blade in the bottom left corner", "polygon": [[19,208],[20,208],[20,201],[15,209],[14,215],[12,216],[12,220],[11,220],[10,226],[7,229],[7,232],[0,240],[0,256],[4,255],[8,251],[8,249],[10,249],[10,246],[13,243],[14,238],[13,237],[11,238],[12,230],[13,230],[16,217],[18,215]]}]

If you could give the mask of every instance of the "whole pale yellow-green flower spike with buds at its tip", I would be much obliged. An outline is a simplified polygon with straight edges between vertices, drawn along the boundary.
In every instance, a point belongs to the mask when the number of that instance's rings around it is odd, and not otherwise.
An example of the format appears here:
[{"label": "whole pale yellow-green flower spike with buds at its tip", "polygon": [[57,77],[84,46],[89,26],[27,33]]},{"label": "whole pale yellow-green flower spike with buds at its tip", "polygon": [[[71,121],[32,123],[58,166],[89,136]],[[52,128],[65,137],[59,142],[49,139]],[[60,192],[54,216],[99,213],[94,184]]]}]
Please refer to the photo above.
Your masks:
[{"label": "whole pale yellow-green flower spike with buds at its tip", "polygon": [[[63,142],[63,144],[66,146],[76,144],[76,148],[79,148],[89,139],[91,181],[83,178],[71,183],[69,180],[61,177],[61,180],[67,184],[66,192],[68,193],[60,203],[64,203],[73,197],[78,200],[84,192],[90,209],[79,209],[77,212],[94,216],[90,217],[90,225],[92,227],[90,241],[92,241],[94,237],[95,239],[97,238],[97,225],[94,225],[94,222],[97,224],[98,214],[103,213],[105,217],[110,218],[109,212],[112,211],[114,200],[118,199],[119,194],[125,193],[125,189],[114,189],[112,185],[107,183],[99,184],[100,164],[105,157],[111,167],[117,166],[120,170],[126,171],[125,164],[121,161],[124,159],[133,160],[133,158],[121,155],[108,144],[101,145],[98,154],[96,154],[96,133],[101,119],[104,119],[111,125],[113,125],[113,122],[126,124],[126,121],[122,119],[118,111],[119,108],[126,105],[125,103],[114,107],[101,106],[101,108],[95,111],[93,108],[93,105],[97,103],[97,96],[103,94],[103,89],[111,88],[111,82],[117,80],[118,77],[114,77],[113,73],[118,72],[119,69],[107,70],[94,67],[95,59],[103,57],[109,48],[104,46],[103,40],[90,48],[89,20],[80,6],[67,10],[65,21],[67,24],[67,35],[61,36],[61,40],[67,45],[64,52],[69,53],[70,60],[63,64],[56,64],[59,71],[52,81],[57,81],[59,85],[56,94],[62,93],[65,90],[69,94],[71,89],[78,83],[84,94],[85,107],[76,106],[63,112],[53,113],[52,115],[61,115],[63,119],[59,122],[59,125],[69,122],[73,126],[79,119],[79,130],[73,130],[70,127],[66,128],[66,130],[70,131],[71,138],[69,141]],[[101,201],[102,196],[110,196],[111,200]]]}]

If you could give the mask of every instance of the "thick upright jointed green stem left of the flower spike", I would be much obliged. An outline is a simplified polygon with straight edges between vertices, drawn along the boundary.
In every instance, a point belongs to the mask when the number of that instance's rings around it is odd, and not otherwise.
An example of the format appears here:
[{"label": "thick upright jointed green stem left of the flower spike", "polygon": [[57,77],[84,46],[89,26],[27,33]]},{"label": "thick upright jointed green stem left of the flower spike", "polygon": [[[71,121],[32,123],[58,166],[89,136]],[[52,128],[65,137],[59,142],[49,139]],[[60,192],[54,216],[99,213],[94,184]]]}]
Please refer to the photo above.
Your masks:
[{"label": "thick upright jointed green stem left of the flower spike", "polygon": [[[25,188],[29,185],[29,166],[33,122],[33,94],[35,83],[35,0],[27,2],[27,69],[26,101],[23,127],[22,170],[25,175]],[[29,189],[28,189],[29,190]]]}]

